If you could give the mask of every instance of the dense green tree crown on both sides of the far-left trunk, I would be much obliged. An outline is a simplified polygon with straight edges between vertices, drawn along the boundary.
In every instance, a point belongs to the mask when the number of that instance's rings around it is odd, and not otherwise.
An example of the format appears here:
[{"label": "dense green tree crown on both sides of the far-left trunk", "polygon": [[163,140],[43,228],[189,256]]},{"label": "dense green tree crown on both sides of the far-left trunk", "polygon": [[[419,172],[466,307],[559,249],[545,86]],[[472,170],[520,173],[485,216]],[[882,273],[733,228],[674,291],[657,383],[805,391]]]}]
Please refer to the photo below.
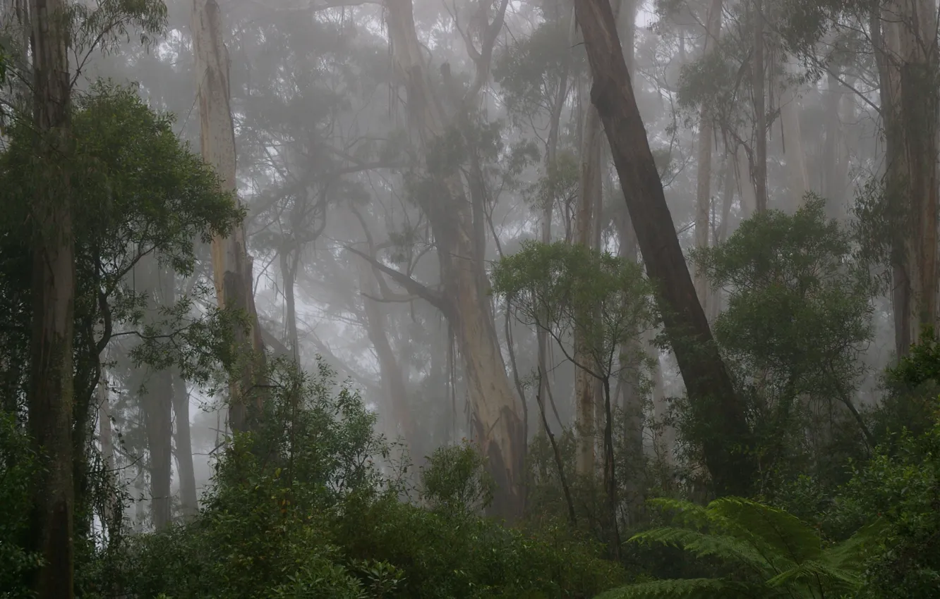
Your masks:
[{"label": "dense green tree crown on both sides of the far-left trunk", "polygon": [[[151,256],[187,276],[196,266],[194,239],[226,234],[243,218],[218,177],[181,143],[170,115],[154,113],[133,87],[99,83],[76,101],[73,150],[68,170],[75,207],[76,390],[87,396],[97,383],[98,355],[112,336],[142,336],[139,357],[180,363],[187,376],[208,376],[224,357],[220,347],[231,316],[196,312],[193,297],[167,309],[160,325],[146,330],[150,290],[136,284],[137,269]],[[26,343],[32,271],[30,207],[45,170],[33,151],[32,129],[20,120],[0,154],[0,341],[8,364],[28,363]],[[196,284],[194,296],[210,296]],[[103,326],[99,326],[102,323]],[[174,331],[168,334],[167,330]],[[176,334],[179,333],[179,334]],[[172,350],[172,351],[171,351]],[[149,352],[149,353],[148,353]],[[6,371],[6,368],[4,369]],[[3,372],[5,399],[23,389],[26,368]],[[8,408],[11,408],[8,406]]]}]

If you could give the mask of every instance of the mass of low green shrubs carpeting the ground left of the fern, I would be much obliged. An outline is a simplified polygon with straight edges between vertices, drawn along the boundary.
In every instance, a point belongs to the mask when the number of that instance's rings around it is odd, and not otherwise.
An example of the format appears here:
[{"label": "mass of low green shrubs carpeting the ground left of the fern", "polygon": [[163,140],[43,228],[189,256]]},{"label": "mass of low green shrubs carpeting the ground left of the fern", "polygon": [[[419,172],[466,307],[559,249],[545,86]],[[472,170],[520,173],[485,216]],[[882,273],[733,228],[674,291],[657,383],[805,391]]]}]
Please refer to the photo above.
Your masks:
[{"label": "mass of low green shrubs carpeting the ground left of the fern", "polygon": [[173,599],[483,599],[589,597],[622,582],[597,547],[564,530],[531,535],[474,515],[485,483],[472,446],[435,453],[425,468],[421,495],[438,509],[401,501],[393,448],[324,364],[312,375],[280,365],[270,389],[265,425],[221,457],[202,513],[132,538],[101,588]]}]

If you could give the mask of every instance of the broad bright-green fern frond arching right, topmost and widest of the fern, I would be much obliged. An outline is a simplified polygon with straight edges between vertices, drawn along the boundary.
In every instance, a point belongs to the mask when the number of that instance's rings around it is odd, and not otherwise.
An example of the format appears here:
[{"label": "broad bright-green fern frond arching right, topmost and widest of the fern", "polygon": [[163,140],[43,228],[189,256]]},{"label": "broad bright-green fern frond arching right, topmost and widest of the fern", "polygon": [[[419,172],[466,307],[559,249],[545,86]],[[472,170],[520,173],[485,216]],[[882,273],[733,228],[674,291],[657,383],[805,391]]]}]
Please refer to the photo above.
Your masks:
[{"label": "broad bright-green fern frond arching right, topmost and widest of the fern", "polygon": [[727,497],[709,503],[708,511],[722,519],[730,534],[758,539],[759,545],[762,542],[788,560],[815,560],[823,553],[816,530],[783,510],[750,499]]}]

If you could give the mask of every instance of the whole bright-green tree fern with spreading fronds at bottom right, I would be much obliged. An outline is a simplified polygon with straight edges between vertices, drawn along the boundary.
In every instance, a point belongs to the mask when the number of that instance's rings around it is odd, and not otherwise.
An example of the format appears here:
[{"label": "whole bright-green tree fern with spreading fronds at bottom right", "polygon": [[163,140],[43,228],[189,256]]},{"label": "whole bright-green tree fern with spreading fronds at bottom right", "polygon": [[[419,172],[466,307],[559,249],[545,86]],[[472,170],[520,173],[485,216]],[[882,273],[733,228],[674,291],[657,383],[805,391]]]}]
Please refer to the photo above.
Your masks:
[{"label": "whole bright-green tree fern with spreading fronds at bottom right", "polygon": [[711,565],[718,576],[659,580],[603,593],[628,597],[819,597],[857,591],[862,585],[863,530],[840,545],[792,515],[748,499],[716,499],[707,507],[673,499],[650,504],[671,515],[674,526],[636,534],[632,543],[681,547]]}]

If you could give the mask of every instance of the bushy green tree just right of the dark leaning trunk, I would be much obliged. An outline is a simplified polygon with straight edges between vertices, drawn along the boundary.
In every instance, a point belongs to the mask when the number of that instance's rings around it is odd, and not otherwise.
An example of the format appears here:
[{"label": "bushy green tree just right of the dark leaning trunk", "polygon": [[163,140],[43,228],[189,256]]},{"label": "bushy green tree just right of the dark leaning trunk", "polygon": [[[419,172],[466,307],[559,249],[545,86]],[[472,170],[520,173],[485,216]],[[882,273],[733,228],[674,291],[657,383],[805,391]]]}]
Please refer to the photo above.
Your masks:
[{"label": "bushy green tree just right of the dark leaning trunk", "polygon": [[[825,218],[823,206],[812,196],[793,215],[768,210],[696,254],[699,268],[729,293],[713,330],[751,397],[762,469],[791,477],[842,468],[862,435],[869,437],[853,394],[872,334],[873,286],[853,259],[850,234]],[[833,413],[834,402],[856,432],[828,435],[833,445],[821,454],[807,445],[805,431],[820,425],[816,410]]]}]

